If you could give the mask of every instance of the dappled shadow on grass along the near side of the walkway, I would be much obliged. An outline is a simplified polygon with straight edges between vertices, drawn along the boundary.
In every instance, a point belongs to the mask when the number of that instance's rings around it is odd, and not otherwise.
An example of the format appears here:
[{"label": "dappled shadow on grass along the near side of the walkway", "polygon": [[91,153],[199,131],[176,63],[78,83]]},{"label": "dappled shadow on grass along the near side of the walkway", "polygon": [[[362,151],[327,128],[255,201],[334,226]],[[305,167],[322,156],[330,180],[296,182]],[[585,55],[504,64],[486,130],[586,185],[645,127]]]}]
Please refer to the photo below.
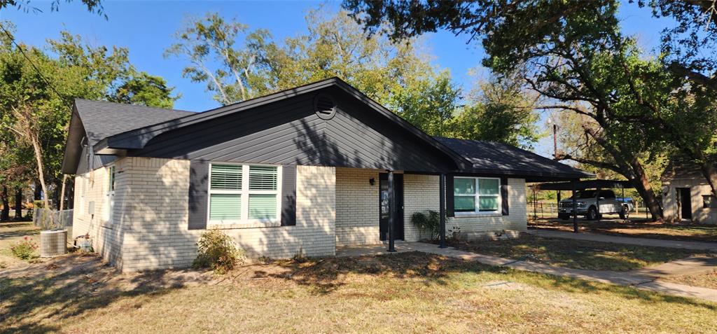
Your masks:
[{"label": "dappled shadow on grass along the near side of the walkway", "polygon": [[[327,295],[351,282],[350,275],[369,275],[386,279],[422,280],[425,285],[449,285],[460,274],[504,275],[499,280],[518,281],[549,290],[573,293],[609,293],[642,302],[667,302],[717,310],[717,305],[697,299],[675,297],[657,292],[637,290],[634,287],[589,282],[570,277],[523,272],[505,267],[493,267],[479,262],[441,257],[422,252],[365,257],[306,259],[303,262],[277,261],[285,269],[280,274],[268,275],[290,280],[309,287],[315,294]],[[260,274],[261,277],[264,274]]]}]

